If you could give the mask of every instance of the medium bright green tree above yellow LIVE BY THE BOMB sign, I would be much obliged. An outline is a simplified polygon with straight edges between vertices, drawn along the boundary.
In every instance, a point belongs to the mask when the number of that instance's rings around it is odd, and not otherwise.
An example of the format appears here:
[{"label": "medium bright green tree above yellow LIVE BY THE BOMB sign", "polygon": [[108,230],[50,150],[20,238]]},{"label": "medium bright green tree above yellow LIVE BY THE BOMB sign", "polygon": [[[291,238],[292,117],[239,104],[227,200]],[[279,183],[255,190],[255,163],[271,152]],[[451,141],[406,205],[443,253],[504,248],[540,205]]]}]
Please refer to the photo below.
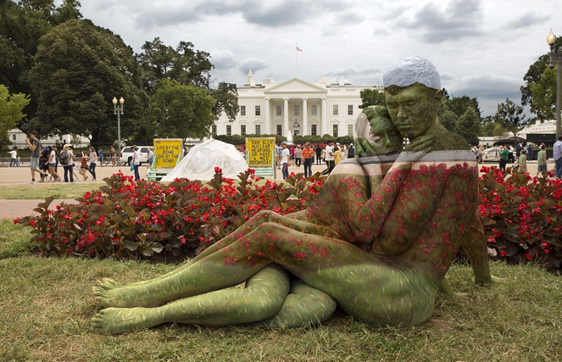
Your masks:
[{"label": "medium bright green tree above yellow LIVE BY THE BOMB sign", "polygon": [[144,123],[153,125],[159,138],[203,138],[210,134],[216,120],[212,112],[214,105],[214,98],[204,88],[159,79]]}]

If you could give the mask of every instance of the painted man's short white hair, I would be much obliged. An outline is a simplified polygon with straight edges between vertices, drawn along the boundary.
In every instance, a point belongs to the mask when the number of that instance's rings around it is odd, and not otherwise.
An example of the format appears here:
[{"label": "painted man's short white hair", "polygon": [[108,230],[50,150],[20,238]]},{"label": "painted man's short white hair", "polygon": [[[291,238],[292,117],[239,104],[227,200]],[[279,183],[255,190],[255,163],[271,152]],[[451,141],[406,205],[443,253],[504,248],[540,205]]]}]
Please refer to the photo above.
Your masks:
[{"label": "painted man's short white hair", "polygon": [[435,65],[419,56],[396,60],[382,76],[384,88],[388,86],[407,87],[416,82],[429,88],[441,89],[441,79]]}]

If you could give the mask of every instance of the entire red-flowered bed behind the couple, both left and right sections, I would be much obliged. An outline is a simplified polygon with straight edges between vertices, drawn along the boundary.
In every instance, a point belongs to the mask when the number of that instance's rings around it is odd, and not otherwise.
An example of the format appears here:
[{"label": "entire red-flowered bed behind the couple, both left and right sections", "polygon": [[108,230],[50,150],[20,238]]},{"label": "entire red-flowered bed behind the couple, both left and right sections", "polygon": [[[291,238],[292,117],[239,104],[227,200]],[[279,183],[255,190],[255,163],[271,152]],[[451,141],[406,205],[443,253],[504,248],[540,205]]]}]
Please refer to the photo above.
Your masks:
[{"label": "entire red-flowered bed behind the couple, both left and right sections", "polygon": [[[133,182],[118,173],[106,186],[86,192],[77,205],[48,210],[52,198],[24,217],[42,255],[81,255],[129,259],[175,260],[191,257],[220,240],[259,210],[293,213],[306,208],[322,187],[318,173],[304,180],[290,175],[285,183],[256,183],[252,170],[240,180]],[[508,169],[483,167],[481,216],[490,257],[511,263],[538,262],[561,269],[562,181],[530,177]],[[307,182],[308,181],[308,182]]]}]

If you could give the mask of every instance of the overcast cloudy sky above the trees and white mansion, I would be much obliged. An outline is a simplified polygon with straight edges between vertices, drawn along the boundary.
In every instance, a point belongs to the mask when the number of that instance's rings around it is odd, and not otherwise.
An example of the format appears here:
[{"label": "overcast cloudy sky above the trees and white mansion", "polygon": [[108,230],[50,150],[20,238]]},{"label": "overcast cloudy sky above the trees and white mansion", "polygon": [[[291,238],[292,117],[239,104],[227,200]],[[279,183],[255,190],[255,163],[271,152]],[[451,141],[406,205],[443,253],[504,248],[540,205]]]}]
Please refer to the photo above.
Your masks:
[{"label": "overcast cloudy sky above the trees and white mansion", "polygon": [[[549,29],[562,34],[559,0],[82,0],[81,12],[122,36],[138,53],[159,36],[174,48],[191,41],[211,53],[215,83],[242,85],[294,76],[318,81],[343,75],[358,86],[381,85],[398,58],[431,60],[452,95],[497,103],[521,101],[523,75],[548,52]],[[298,74],[296,69],[296,47]]]}]

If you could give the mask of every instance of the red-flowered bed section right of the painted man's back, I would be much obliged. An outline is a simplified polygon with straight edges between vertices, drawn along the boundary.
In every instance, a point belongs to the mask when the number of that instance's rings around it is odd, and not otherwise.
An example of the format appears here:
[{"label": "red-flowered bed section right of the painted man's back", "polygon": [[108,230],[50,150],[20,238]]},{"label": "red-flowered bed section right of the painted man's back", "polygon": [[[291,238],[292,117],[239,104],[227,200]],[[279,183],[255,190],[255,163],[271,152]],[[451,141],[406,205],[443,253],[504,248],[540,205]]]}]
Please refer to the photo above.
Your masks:
[{"label": "red-flowered bed section right of the painted man's back", "polygon": [[562,180],[530,177],[517,168],[504,173],[483,167],[478,213],[490,257],[511,263],[534,261],[560,269],[562,260]]}]

